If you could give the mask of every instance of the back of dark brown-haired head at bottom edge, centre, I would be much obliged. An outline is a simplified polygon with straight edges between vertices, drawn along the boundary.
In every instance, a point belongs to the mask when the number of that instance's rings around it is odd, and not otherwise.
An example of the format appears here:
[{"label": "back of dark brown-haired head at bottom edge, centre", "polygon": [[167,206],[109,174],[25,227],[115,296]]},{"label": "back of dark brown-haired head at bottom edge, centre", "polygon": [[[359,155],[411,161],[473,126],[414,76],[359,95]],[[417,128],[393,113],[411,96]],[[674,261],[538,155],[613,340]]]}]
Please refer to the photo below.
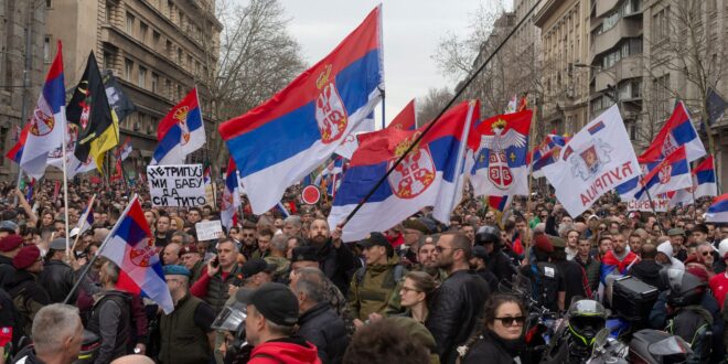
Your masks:
[{"label": "back of dark brown-haired head at bottom edge, centre", "polygon": [[379,320],[356,331],[352,338],[344,364],[364,363],[430,363],[430,351],[393,319]]}]

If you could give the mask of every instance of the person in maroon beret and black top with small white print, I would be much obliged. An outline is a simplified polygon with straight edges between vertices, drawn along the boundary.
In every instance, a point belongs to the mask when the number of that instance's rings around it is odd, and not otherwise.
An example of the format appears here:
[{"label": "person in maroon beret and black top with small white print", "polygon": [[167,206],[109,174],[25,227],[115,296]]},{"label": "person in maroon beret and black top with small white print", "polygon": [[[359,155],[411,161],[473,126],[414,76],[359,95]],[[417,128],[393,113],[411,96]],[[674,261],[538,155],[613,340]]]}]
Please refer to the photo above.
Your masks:
[{"label": "person in maroon beret and black top with small white print", "polygon": [[564,276],[553,264],[554,245],[546,234],[534,236],[533,257],[531,264],[522,266],[521,274],[531,280],[532,296],[538,306],[552,312],[566,309],[566,286]]}]

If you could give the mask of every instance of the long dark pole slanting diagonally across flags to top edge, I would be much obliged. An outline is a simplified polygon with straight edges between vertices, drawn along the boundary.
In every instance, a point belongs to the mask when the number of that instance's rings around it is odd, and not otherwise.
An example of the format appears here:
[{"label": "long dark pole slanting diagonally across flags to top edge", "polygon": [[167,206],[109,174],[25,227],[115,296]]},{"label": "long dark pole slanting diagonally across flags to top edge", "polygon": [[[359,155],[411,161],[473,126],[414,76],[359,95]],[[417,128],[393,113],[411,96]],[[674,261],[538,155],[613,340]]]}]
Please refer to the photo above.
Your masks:
[{"label": "long dark pole slanting diagonally across flags to top edge", "polygon": [[[402,156],[389,167],[387,172],[384,173],[384,175],[379,179],[379,181],[376,182],[376,184],[374,184],[372,190],[370,190],[370,192],[364,196],[364,199],[362,199],[362,201],[360,201],[360,203],[356,205],[356,207],[354,207],[354,210],[352,210],[352,212],[349,213],[349,215],[340,224],[341,227],[345,226],[352,220],[352,217],[354,217],[354,215],[358,212],[358,210],[362,208],[362,206],[372,197],[372,195],[374,195],[374,192],[376,192],[376,190],[382,185],[382,183],[384,183],[384,181],[386,181],[389,178],[389,174],[392,174],[392,172],[399,164],[402,164],[402,161],[405,160],[405,158],[415,148],[415,146],[419,144],[419,142],[422,140],[422,138],[425,138],[425,136],[427,135],[427,132],[430,131],[430,129],[432,129],[432,127],[440,120],[440,117],[442,117],[442,115],[445,115],[445,113],[450,108],[450,106],[452,106],[460,98],[460,95],[462,95],[462,93],[468,88],[468,86],[470,86],[470,84],[472,84],[472,82],[475,79],[475,77],[478,77],[478,75],[483,69],[485,69],[485,66],[488,66],[490,64],[491,60],[493,60],[493,57],[501,51],[501,49],[505,45],[505,42],[507,42],[511,39],[511,36],[513,36],[513,34],[515,34],[515,32],[521,28],[521,25],[527,19],[531,19],[531,14],[536,10],[536,7],[538,7],[539,3],[540,3],[540,0],[536,0],[536,3],[534,3],[533,8],[531,8],[531,10],[528,10],[526,15],[523,17],[523,19],[521,19],[518,21],[518,23],[511,30],[508,35],[503,41],[501,41],[501,43],[493,51],[493,53],[491,53],[488,56],[485,62],[483,62],[483,64],[480,65],[480,67],[472,75],[470,75],[470,77],[468,78],[468,81],[465,81],[465,84],[462,85],[462,87],[460,87],[459,89],[456,90],[456,93],[452,96],[452,98],[450,99],[450,101],[448,101],[448,104],[442,108],[442,110],[440,110],[440,113],[435,117],[435,119],[430,124],[427,125],[425,130],[422,130],[422,132],[413,141],[413,143],[409,144],[407,150],[404,153],[402,153]],[[467,142],[467,140],[463,140],[462,142]]]}]

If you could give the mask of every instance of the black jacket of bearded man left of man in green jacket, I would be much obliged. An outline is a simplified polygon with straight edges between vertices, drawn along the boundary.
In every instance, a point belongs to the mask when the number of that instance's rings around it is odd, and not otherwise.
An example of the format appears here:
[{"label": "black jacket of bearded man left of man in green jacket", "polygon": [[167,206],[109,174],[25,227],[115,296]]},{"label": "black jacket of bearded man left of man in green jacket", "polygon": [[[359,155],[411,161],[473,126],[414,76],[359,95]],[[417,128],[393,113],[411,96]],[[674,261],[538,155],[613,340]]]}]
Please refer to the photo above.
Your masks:
[{"label": "black jacket of bearded man left of man in green jacket", "polygon": [[339,248],[334,248],[333,243],[329,239],[329,242],[318,249],[317,256],[321,271],[346,297],[352,276],[356,268],[360,267],[352,250],[344,243]]}]

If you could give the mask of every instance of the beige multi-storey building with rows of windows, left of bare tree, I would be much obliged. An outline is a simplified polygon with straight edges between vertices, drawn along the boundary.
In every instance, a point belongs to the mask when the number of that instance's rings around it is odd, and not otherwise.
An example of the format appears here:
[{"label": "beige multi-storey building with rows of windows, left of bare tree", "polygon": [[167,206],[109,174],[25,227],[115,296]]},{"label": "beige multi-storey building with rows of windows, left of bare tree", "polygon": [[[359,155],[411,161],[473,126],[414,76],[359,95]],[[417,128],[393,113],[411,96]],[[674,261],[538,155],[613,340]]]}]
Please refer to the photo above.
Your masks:
[{"label": "beige multi-storey building with rows of windows, left of bare tree", "polygon": [[[214,0],[49,0],[46,38],[63,41],[66,87],[83,75],[89,52],[110,69],[137,113],[120,122],[120,137],[131,138],[135,169],[146,165],[157,147],[157,125],[196,86],[210,139],[216,133],[206,107],[214,79],[222,24]],[[196,152],[189,161],[210,154]]]}]

